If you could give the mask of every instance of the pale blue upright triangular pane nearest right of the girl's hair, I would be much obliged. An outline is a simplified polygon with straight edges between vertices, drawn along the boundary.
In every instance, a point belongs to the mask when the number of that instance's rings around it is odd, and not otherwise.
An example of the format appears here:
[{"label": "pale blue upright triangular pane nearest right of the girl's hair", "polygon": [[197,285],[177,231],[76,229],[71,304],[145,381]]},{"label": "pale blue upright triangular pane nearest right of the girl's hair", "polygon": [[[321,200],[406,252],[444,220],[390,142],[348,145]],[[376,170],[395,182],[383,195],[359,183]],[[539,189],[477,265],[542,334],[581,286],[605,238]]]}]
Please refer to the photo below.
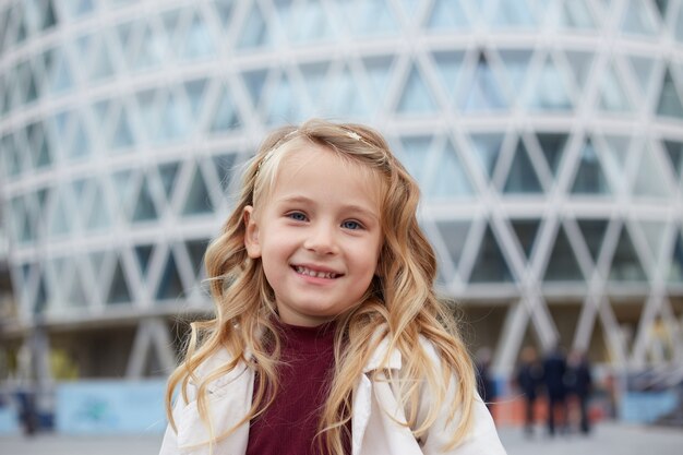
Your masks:
[{"label": "pale blue upright triangular pane nearest right of the girl's hair", "polygon": [[463,161],[450,142],[440,155],[439,166],[430,181],[427,189],[429,199],[468,197],[475,193]]}]

